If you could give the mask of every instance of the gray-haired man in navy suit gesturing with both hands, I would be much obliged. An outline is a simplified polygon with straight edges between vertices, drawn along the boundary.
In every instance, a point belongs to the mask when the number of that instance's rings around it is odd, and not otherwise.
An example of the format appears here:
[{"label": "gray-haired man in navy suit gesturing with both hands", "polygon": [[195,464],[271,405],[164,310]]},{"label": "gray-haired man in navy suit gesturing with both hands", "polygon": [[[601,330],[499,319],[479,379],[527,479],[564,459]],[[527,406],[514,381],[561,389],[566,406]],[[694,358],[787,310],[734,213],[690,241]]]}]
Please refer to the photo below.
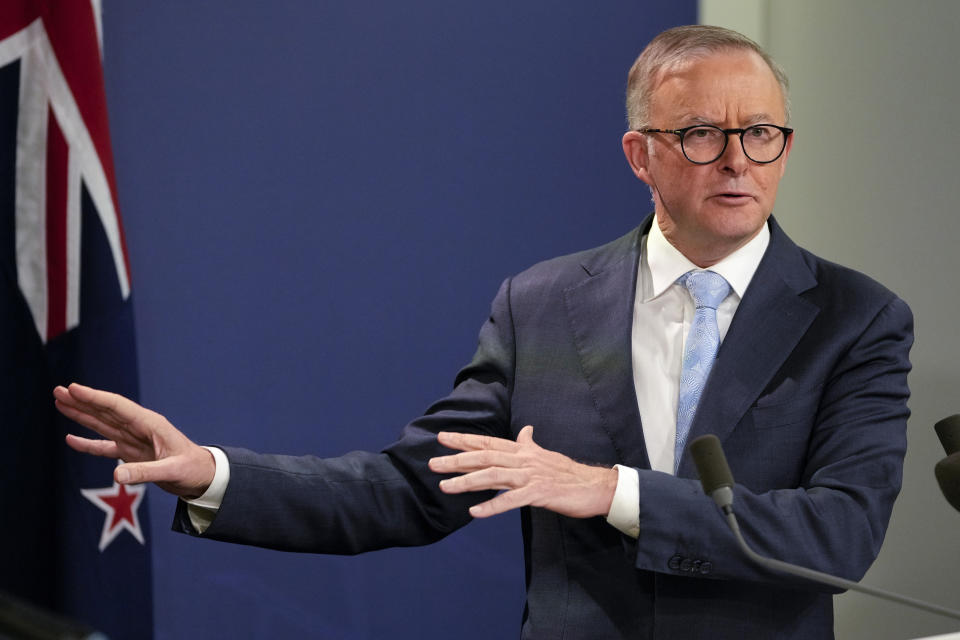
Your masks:
[{"label": "gray-haired man in navy suit gesturing with both hands", "polygon": [[278,549],[426,544],[520,508],[524,638],[832,637],[831,594],[742,557],[685,445],[723,442],[754,548],[859,579],[899,491],[910,312],[770,218],[794,136],[752,41],[664,32],[628,113],[654,215],[504,282],[454,390],[383,452],[205,449],[79,385],[58,408],[107,440],[68,443],[191,500],[179,530]]}]

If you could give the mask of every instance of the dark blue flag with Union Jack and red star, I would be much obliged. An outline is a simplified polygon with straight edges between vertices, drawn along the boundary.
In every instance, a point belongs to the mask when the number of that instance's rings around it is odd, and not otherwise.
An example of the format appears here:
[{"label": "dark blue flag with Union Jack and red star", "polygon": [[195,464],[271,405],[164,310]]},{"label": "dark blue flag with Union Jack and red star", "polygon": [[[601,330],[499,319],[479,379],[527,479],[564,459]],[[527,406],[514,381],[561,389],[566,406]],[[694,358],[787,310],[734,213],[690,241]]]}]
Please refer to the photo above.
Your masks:
[{"label": "dark blue flag with Union Jack and red star", "polygon": [[136,398],[99,0],[0,3],[0,593],[153,635],[144,487],[66,447],[78,381]]}]

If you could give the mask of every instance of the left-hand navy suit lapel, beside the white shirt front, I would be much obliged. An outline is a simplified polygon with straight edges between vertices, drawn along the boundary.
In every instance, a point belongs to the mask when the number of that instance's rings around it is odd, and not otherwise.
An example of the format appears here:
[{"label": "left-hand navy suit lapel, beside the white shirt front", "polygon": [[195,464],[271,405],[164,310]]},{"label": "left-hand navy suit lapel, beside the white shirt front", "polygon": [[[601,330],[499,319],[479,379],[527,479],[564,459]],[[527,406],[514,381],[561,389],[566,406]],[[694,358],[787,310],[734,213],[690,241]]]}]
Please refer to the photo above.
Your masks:
[{"label": "left-hand navy suit lapel, beside the white shirt front", "polygon": [[588,277],[564,291],[580,365],[618,462],[648,469],[633,385],[631,331],[640,238],[649,221],[584,262]]}]

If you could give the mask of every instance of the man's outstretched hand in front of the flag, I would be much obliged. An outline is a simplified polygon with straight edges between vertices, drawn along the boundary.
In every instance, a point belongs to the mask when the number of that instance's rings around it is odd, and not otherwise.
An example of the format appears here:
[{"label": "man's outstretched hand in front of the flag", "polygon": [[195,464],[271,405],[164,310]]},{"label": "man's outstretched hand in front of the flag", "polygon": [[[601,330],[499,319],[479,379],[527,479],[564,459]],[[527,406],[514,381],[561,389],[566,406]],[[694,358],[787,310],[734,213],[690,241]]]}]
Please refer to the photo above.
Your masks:
[{"label": "man's outstretched hand in front of the flag", "polygon": [[213,455],[159,413],[79,384],[57,387],[53,396],[60,413],[106,438],[68,434],[67,444],[83,453],[122,460],[113,474],[120,484],[154,482],[190,499],[203,495],[213,481]]}]

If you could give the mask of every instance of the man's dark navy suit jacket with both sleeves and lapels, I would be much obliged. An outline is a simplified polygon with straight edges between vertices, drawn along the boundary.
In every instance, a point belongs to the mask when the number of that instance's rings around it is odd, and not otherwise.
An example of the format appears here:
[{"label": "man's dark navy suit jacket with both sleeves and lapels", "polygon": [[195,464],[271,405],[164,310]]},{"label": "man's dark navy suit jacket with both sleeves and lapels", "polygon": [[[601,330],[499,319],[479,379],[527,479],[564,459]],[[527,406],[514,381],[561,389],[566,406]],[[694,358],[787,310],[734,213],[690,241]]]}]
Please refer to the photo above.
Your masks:
[{"label": "man's dark navy suit jacket with both sleeves and lapels", "polygon": [[[435,541],[489,497],[439,491],[427,460],[449,451],[435,433],[515,438],[532,424],[543,447],[639,470],[640,537],[602,518],[524,509],[523,638],[833,637],[832,595],[743,558],[689,455],[678,477],[650,470],[631,373],[650,223],[504,282],[451,394],[381,453],[322,460],[225,448],[230,485],[204,536],[321,553]],[[900,488],[912,317],[873,280],[769,224],[690,439],[719,436],[754,548],[857,580]],[[175,528],[195,533],[182,505]]]}]

